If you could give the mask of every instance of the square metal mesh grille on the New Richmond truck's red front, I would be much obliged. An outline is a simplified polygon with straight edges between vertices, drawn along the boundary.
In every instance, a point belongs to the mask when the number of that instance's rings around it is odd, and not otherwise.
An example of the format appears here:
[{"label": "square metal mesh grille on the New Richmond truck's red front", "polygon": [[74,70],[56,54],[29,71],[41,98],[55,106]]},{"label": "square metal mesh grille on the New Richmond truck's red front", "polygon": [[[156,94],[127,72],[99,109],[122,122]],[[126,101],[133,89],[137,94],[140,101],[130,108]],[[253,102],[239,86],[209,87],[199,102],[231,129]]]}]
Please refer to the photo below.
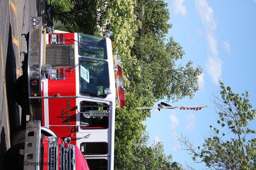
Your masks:
[{"label": "square metal mesh grille on the New Richmond truck's red front", "polygon": [[70,46],[52,45],[46,46],[45,64],[51,66],[69,66],[70,65]]}]

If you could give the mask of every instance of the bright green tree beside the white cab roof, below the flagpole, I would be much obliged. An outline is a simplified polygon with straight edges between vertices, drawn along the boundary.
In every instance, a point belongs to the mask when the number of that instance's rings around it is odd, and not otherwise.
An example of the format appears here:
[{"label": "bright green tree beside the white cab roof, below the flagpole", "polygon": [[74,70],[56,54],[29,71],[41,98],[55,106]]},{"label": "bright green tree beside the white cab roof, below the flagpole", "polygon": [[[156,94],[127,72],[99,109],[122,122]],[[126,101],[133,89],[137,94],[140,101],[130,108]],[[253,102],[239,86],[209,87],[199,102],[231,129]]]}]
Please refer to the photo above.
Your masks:
[{"label": "bright green tree beside the white cab roof, below the flagpole", "polygon": [[145,117],[142,117],[140,110],[136,109],[139,104],[140,100],[127,92],[125,106],[122,109],[116,108],[115,167],[131,164],[134,159],[132,152],[135,144],[139,141],[142,131],[146,129],[142,124]]}]

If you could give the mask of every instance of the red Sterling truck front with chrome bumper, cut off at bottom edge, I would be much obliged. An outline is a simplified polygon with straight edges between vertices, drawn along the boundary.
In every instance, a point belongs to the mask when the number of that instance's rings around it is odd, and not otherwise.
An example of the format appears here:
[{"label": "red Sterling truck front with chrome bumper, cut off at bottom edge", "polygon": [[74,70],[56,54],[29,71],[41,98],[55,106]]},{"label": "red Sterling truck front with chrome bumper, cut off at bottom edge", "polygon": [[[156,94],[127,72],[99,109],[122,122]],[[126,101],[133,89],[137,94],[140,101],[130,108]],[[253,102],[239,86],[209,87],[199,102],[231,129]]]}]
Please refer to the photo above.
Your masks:
[{"label": "red Sterling truck front with chrome bumper, cut off at bottom edge", "polygon": [[51,135],[46,137],[45,129],[41,128],[40,121],[28,121],[24,133],[21,130],[20,135],[16,136],[22,141],[14,144],[5,154],[5,169],[89,170],[83,153],[76,145],[70,144],[70,137],[66,137],[63,142],[49,129],[46,131]]}]

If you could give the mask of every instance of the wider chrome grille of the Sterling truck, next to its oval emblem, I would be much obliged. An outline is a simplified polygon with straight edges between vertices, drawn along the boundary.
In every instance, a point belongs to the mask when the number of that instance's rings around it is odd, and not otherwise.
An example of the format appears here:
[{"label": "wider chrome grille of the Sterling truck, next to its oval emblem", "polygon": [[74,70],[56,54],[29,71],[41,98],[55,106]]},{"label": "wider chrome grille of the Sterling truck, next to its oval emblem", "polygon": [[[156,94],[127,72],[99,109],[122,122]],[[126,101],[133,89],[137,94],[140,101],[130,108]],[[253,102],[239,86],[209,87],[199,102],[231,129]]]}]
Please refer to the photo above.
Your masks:
[{"label": "wider chrome grille of the Sterling truck, next to its oval emblem", "polygon": [[68,144],[68,148],[64,148],[64,144],[60,144],[60,170],[75,170],[75,161],[75,146]]}]

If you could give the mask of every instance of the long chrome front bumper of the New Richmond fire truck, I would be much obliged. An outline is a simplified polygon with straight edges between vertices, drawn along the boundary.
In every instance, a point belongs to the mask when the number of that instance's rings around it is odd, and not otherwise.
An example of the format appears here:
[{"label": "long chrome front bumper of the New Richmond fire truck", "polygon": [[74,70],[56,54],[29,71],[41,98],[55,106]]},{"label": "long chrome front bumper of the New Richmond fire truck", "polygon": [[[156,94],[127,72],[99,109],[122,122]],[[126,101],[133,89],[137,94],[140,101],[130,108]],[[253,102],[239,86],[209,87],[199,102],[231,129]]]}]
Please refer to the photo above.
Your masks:
[{"label": "long chrome front bumper of the New Richmond fire truck", "polygon": [[[28,93],[29,97],[41,97],[41,66],[43,63],[42,17],[30,17],[28,41]],[[32,84],[33,82],[33,84]],[[36,82],[36,83],[35,83]],[[35,85],[36,84],[36,85]],[[42,120],[41,100],[29,99],[30,119]]]}]

